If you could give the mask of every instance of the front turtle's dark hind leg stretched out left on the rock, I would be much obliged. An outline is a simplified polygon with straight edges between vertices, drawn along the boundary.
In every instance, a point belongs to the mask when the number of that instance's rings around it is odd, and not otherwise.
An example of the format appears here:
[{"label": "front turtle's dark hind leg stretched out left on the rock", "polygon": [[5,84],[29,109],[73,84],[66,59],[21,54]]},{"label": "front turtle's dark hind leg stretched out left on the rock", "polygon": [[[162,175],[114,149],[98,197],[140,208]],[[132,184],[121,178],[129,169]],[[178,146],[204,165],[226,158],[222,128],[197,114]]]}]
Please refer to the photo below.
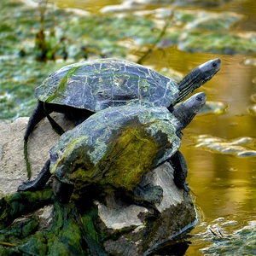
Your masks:
[{"label": "front turtle's dark hind leg stretched out left on the rock", "polygon": [[43,189],[44,185],[48,182],[49,177],[51,175],[49,172],[49,163],[50,161],[47,160],[41,172],[39,172],[38,177],[36,177],[36,179],[22,183],[17,190],[18,191],[26,191],[26,190],[35,191],[38,189]]}]

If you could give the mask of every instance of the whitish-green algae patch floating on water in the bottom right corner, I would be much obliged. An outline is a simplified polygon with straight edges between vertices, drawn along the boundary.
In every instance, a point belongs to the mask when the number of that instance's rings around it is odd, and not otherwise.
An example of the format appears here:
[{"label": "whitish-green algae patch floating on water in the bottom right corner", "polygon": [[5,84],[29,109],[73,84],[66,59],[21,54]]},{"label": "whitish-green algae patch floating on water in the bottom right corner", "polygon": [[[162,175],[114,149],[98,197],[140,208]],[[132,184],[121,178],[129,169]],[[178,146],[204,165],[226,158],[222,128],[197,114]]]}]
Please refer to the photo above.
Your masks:
[{"label": "whitish-green algae patch floating on water in the bottom right corner", "polygon": [[256,223],[248,218],[240,219],[228,216],[210,224],[201,223],[198,234],[192,235],[190,240],[203,243],[205,247],[189,247],[185,255],[254,255]]}]

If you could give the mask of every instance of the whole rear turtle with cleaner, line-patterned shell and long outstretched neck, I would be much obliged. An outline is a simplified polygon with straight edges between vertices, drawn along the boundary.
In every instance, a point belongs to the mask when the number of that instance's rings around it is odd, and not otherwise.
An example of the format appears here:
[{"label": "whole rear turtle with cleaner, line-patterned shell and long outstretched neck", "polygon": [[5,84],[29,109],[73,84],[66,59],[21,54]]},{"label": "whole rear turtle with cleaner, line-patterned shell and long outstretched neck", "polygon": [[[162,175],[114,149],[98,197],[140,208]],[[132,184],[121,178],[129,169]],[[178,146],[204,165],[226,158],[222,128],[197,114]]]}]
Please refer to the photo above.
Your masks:
[{"label": "whole rear turtle with cleaner, line-patterned shell and long outstretched neck", "polygon": [[55,131],[64,132],[49,113],[66,113],[79,125],[92,113],[121,105],[166,107],[172,112],[193,90],[212,79],[221,65],[219,59],[196,67],[179,83],[131,61],[98,59],[81,61],[51,73],[35,90],[38,105],[32,112],[24,136],[24,154],[28,178],[27,142],[35,125],[45,116]]}]

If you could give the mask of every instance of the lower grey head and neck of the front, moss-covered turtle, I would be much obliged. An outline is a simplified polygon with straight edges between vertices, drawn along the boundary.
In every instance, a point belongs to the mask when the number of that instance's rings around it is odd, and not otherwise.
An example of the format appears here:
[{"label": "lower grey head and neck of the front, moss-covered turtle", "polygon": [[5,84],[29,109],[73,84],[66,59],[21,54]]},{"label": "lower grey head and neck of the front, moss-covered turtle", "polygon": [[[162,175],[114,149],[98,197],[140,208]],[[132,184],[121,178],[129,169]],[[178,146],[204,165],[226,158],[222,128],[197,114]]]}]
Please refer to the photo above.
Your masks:
[{"label": "lower grey head and neck of the front, moss-covered turtle", "polygon": [[194,119],[195,114],[204,106],[207,96],[200,92],[191,96],[185,102],[182,102],[174,108],[172,114],[178,119],[177,131],[183,130]]}]

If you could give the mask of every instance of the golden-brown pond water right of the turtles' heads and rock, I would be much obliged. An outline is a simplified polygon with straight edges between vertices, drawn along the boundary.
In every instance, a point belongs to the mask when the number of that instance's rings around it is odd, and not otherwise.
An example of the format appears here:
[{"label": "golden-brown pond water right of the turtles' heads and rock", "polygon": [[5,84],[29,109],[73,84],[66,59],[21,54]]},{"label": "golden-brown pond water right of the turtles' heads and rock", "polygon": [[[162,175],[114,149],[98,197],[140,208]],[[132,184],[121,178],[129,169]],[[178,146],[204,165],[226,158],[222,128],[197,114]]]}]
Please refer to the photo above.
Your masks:
[{"label": "golden-brown pond water right of the turtles' heads and rock", "polygon": [[[219,217],[222,217],[219,224],[235,218],[236,225],[224,226],[222,229],[226,234],[232,235],[240,228],[247,227],[247,221],[256,219],[256,119],[254,114],[249,113],[249,108],[255,104],[253,95],[256,86],[253,79],[256,76],[256,68],[245,64],[255,55],[187,53],[172,47],[166,50],[166,58],[168,57],[172,58],[169,65],[184,74],[189,72],[191,66],[196,67],[209,59],[218,57],[222,60],[219,73],[200,90],[207,92],[208,101],[223,102],[227,109],[222,114],[197,116],[184,130],[181,148],[188,162],[188,182],[195,195],[195,202],[201,209],[202,221],[191,232],[192,244],[185,255],[212,255],[218,252],[219,247],[224,247],[224,242],[230,242],[230,239],[241,242],[247,237],[232,236],[229,240],[220,238],[214,241],[214,236],[207,229],[208,225],[215,224]],[[162,58],[163,55],[158,58],[152,56],[156,65],[160,64]],[[183,63],[188,64],[184,66]],[[200,146],[198,137],[212,138],[212,143],[218,139],[225,140],[225,144],[222,148],[216,145],[211,150],[207,146]],[[232,148],[232,140],[238,141],[236,148]],[[237,156],[247,151],[253,151],[254,155]],[[253,229],[255,230],[255,226]],[[255,236],[255,233],[251,236]],[[214,242],[214,249],[201,251],[208,246],[211,248]],[[256,250],[256,245],[253,244],[249,251],[243,248],[240,253],[236,253],[236,249],[237,247],[231,244],[227,251],[222,251],[220,255],[248,255]],[[245,254],[241,254],[242,252]]]}]

